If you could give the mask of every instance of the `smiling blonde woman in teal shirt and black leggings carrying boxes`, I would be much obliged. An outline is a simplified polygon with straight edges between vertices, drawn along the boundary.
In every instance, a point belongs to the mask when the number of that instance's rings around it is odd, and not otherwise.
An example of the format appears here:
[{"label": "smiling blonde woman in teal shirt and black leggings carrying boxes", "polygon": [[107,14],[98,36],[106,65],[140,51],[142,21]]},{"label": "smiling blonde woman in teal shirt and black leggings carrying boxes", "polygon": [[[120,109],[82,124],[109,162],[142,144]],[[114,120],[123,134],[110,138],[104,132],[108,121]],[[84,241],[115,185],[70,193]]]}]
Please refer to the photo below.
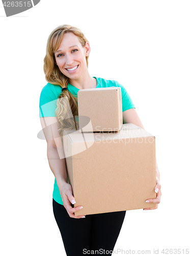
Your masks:
[{"label": "smiling blonde woman in teal shirt and black leggings carrying boxes", "polygon": [[[51,32],[44,58],[44,72],[48,83],[40,95],[40,120],[47,140],[47,157],[55,175],[53,214],[61,232],[67,255],[112,255],[126,211],[75,216],[80,207],[73,207],[75,199],[68,182],[62,146],[63,130],[76,127],[78,122],[77,91],[98,87],[121,87],[123,123],[143,124],[125,88],[115,80],[91,77],[88,58],[91,48],[87,38],[76,27],[59,26]],[[156,199],[160,202],[159,170],[156,163]],[[79,219],[79,220],[78,220]],[[104,253],[103,253],[104,251]],[[107,251],[107,252],[106,252]],[[98,253],[97,253],[98,252]],[[109,252],[109,253],[108,253]]]}]

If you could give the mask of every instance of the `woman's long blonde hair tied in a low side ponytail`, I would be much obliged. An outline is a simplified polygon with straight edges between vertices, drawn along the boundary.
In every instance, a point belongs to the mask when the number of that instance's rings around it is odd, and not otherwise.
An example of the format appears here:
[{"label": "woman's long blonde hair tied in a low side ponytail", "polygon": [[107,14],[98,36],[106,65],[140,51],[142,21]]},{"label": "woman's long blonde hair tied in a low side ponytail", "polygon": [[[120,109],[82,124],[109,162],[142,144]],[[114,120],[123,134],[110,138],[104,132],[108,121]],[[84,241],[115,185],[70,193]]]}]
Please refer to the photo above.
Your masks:
[{"label": "woman's long blonde hair tied in a low side ponytail", "polygon": [[[44,57],[43,69],[45,73],[45,79],[49,83],[59,85],[62,88],[67,87],[69,78],[65,76],[56,65],[56,58],[54,53],[58,50],[63,35],[69,32],[72,32],[78,36],[80,44],[85,47],[88,40],[82,31],[80,31],[80,29],[70,25],[62,25],[53,30],[49,35],[47,40],[46,55]],[[86,56],[87,68],[88,58],[89,56]],[[73,127],[75,127],[77,130],[78,121],[75,120],[75,116],[78,116],[77,97],[73,96],[68,90],[63,90],[61,95],[58,97],[55,114],[59,122],[58,131],[60,133],[61,139],[63,138],[64,130],[70,130],[73,129]]]}]

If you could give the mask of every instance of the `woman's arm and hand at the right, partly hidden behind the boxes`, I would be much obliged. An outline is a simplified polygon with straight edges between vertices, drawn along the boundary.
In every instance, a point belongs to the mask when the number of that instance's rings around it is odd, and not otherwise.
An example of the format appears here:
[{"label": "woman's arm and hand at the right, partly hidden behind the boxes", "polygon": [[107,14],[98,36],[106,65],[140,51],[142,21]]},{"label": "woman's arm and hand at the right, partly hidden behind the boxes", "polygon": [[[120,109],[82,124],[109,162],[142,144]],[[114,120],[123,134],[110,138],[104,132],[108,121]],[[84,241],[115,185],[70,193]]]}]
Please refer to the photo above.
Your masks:
[{"label": "woman's arm and hand at the right, partly hidden behind the boxes", "polygon": [[[138,114],[135,109],[129,109],[123,112],[123,123],[133,123],[142,129],[145,130]],[[156,161],[156,186],[155,186],[155,192],[157,193],[157,197],[155,199],[148,199],[149,203],[156,203],[155,208],[146,208],[147,210],[153,210],[157,209],[158,203],[160,202],[160,197],[161,197],[161,185],[160,185],[160,174],[157,166],[157,161]]]}]

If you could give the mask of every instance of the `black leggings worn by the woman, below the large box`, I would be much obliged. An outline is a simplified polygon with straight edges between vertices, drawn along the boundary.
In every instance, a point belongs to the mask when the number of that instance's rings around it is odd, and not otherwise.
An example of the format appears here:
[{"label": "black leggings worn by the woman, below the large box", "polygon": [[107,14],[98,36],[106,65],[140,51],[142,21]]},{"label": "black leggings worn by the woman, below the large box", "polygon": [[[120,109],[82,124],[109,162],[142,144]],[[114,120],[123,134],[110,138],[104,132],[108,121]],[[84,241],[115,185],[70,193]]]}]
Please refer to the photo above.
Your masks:
[{"label": "black leggings worn by the woman, below the large box", "polygon": [[68,215],[62,204],[53,199],[53,214],[67,256],[91,255],[92,250],[92,255],[112,255],[126,211],[86,215],[86,218],[74,219]]}]

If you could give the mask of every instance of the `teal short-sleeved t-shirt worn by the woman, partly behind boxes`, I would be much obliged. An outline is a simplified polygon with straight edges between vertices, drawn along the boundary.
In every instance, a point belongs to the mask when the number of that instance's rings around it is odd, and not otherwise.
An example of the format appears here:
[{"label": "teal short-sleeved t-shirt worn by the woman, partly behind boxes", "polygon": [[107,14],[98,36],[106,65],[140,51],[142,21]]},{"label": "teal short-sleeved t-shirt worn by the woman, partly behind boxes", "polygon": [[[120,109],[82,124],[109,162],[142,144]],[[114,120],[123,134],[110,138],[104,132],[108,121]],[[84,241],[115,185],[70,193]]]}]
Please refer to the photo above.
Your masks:
[{"label": "teal short-sleeved t-shirt worn by the woman, partly behind boxes", "polygon": [[[127,93],[126,89],[120,84],[119,82],[115,80],[106,80],[100,77],[95,77],[97,80],[97,87],[121,87],[121,96],[122,96],[122,112],[129,110],[129,109],[135,109],[135,106]],[[67,90],[74,96],[77,97],[77,92],[79,91],[78,88],[72,86],[72,84],[68,83]],[[55,116],[55,110],[57,109],[57,99],[62,93],[61,86],[57,86],[51,83],[47,83],[46,86],[42,88],[41,94],[40,94],[40,104],[39,104],[39,114],[40,117],[50,117]],[[55,178],[54,187],[53,187],[53,199],[63,205],[63,201],[60,195],[60,190],[58,188],[58,184]]]}]

